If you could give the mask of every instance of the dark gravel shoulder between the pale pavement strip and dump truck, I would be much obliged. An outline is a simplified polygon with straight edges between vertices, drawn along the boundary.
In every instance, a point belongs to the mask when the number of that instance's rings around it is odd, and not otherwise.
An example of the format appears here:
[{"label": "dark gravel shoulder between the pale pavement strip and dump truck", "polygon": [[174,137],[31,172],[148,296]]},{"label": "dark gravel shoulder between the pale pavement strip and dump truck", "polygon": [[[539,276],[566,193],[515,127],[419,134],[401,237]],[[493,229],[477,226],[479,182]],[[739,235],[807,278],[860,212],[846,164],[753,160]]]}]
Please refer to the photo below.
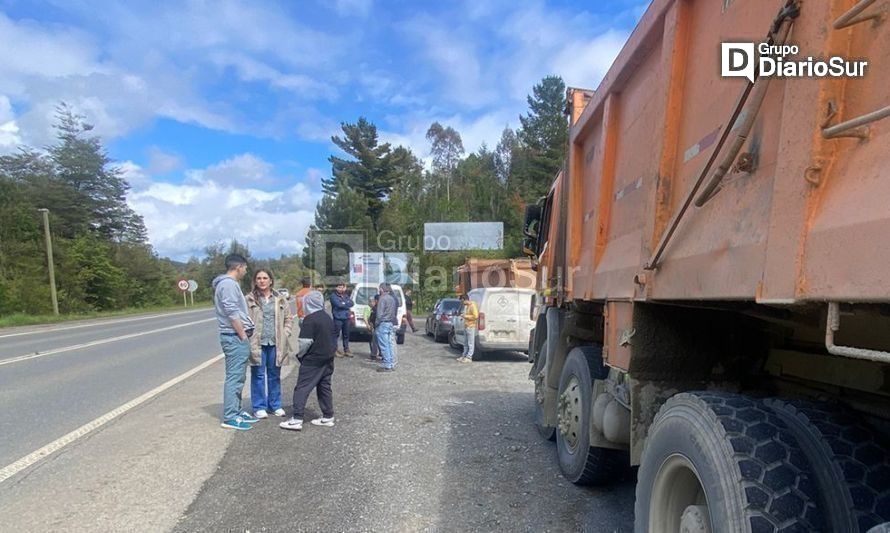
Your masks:
[{"label": "dark gravel shoulder between the pale pavement strip and dump truck", "polygon": [[[409,334],[398,370],[378,374],[367,343],[353,351],[336,361],[336,426],[287,432],[270,419],[238,432],[176,531],[632,530],[632,483],[562,479],[531,423],[524,355],[461,365]],[[282,384],[288,413],[295,380]]]}]

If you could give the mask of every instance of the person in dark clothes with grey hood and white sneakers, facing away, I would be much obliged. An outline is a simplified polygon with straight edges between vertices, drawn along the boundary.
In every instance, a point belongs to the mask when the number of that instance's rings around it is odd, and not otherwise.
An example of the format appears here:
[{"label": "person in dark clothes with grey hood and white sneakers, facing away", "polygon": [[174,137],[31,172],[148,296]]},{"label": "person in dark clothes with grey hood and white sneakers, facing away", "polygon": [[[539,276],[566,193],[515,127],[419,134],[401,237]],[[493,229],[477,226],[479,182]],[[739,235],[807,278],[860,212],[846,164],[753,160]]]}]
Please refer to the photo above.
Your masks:
[{"label": "person in dark clothes with grey hood and white sneakers, facing away", "polygon": [[334,321],[324,311],[324,296],[312,291],[303,297],[306,317],[297,339],[299,348],[300,374],[294,387],[294,412],[290,420],[278,424],[281,429],[300,431],[303,429],[303,413],[312,389],[318,394],[321,417],[312,420],[316,426],[334,425],[334,394],[331,390],[331,376],[334,374]]}]

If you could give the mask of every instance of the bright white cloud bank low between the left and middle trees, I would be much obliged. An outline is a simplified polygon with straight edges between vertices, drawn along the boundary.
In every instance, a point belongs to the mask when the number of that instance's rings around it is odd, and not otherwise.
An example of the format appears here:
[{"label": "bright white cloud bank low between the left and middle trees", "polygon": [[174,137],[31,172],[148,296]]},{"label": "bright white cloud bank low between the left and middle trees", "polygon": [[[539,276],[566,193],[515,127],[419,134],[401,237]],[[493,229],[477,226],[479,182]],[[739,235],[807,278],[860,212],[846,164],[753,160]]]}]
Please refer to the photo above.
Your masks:
[{"label": "bright white cloud bank low between the left and middle trees", "polygon": [[[313,222],[320,199],[313,182],[321,171],[309,169],[306,176],[283,190],[266,191],[242,182],[223,183],[234,169],[261,169],[262,160],[244,154],[206,169],[187,171],[200,180],[172,184],[149,181],[131,192],[130,206],[145,220],[149,241],[159,255],[177,260],[201,256],[215,242],[238,239],[256,257],[299,253],[306,230]],[[122,165],[123,167],[124,165]],[[143,175],[133,165],[126,175]]]}]

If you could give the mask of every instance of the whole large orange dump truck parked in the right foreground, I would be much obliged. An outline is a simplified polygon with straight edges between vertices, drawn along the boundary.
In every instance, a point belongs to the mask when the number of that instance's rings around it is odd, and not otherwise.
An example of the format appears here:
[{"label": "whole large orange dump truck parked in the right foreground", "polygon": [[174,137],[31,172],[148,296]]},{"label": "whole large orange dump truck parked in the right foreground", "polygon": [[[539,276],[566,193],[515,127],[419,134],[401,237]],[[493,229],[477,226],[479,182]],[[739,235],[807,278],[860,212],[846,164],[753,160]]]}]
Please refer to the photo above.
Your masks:
[{"label": "whole large orange dump truck parked in the right foreground", "polygon": [[890,521],[888,8],[654,0],[568,91],[526,211],[535,423],[575,483],[639,466],[637,531]]}]

